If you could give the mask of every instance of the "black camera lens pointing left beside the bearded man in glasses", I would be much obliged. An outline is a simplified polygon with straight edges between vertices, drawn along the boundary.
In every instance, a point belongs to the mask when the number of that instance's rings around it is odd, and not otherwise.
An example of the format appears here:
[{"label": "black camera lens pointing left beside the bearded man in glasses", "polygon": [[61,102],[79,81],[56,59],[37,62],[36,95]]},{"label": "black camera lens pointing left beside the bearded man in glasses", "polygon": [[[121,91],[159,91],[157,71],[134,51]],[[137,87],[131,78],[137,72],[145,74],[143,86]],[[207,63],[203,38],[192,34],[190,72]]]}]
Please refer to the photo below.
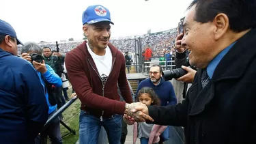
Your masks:
[{"label": "black camera lens pointing left beside the bearded man in glasses", "polygon": [[183,68],[176,68],[174,70],[164,70],[162,71],[162,78],[164,78],[165,81],[170,81],[172,78],[180,78],[181,76],[184,76],[186,73],[188,73]]}]

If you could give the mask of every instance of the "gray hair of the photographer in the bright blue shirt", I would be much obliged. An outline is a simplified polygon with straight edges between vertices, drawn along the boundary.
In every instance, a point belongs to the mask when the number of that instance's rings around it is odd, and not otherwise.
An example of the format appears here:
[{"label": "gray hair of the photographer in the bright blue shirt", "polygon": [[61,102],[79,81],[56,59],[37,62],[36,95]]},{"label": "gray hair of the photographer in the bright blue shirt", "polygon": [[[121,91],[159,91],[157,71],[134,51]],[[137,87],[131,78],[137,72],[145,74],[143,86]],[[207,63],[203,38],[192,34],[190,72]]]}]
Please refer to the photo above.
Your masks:
[{"label": "gray hair of the photographer in the bright blue shirt", "polygon": [[42,55],[42,48],[35,42],[26,42],[21,48],[21,54],[23,53],[37,53],[38,55]]}]

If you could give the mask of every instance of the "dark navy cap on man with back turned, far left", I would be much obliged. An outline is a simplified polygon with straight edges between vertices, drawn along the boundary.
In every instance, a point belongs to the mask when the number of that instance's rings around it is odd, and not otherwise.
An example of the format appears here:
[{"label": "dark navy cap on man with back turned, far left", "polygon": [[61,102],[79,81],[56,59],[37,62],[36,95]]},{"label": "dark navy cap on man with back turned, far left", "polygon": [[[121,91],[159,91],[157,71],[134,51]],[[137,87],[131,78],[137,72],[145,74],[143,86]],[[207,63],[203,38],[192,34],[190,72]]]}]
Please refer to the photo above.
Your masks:
[{"label": "dark navy cap on man with back turned, far left", "polygon": [[10,35],[12,38],[16,38],[17,44],[23,45],[23,43],[18,40],[16,32],[12,25],[5,22],[4,20],[0,20],[0,35]]}]

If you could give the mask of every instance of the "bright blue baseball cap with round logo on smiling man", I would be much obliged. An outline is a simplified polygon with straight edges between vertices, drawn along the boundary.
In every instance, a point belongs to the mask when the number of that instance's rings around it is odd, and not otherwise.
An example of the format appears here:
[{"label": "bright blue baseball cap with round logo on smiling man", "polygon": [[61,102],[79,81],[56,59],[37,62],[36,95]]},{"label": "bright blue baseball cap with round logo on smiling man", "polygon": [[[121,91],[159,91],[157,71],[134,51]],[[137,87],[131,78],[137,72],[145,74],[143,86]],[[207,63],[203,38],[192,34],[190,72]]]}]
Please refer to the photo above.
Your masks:
[{"label": "bright blue baseball cap with round logo on smiling man", "polygon": [[82,16],[83,25],[99,23],[102,21],[109,21],[112,25],[110,18],[109,9],[105,8],[102,5],[90,5],[84,12]]}]

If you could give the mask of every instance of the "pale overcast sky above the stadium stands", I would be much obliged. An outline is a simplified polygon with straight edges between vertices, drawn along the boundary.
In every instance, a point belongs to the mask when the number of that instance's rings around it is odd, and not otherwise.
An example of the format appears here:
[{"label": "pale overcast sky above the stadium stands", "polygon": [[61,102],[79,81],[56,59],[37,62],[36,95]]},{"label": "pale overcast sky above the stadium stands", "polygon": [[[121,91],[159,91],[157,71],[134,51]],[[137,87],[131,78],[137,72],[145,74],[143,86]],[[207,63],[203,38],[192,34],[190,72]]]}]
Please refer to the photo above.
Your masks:
[{"label": "pale overcast sky above the stadium stands", "polygon": [[1,1],[0,18],[22,42],[81,40],[82,14],[100,4],[111,12],[111,37],[141,35],[177,27],[192,0],[11,0]]}]

